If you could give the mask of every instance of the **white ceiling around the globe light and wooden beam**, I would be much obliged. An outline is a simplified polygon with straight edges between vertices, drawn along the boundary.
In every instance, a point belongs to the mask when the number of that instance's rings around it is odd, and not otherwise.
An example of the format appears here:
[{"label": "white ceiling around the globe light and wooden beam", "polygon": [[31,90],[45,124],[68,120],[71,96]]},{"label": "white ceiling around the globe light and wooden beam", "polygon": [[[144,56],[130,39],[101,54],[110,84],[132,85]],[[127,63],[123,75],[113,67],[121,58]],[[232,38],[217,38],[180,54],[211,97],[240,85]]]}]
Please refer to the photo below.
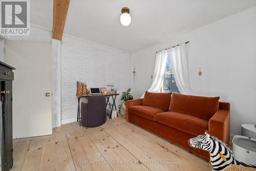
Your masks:
[{"label": "white ceiling around the globe light and wooden beam", "polygon": [[[52,0],[31,2],[31,23],[52,29]],[[256,0],[71,0],[64,33],[127,52],[256,5]],[[119,18],[129,7],[132,22]]]}]

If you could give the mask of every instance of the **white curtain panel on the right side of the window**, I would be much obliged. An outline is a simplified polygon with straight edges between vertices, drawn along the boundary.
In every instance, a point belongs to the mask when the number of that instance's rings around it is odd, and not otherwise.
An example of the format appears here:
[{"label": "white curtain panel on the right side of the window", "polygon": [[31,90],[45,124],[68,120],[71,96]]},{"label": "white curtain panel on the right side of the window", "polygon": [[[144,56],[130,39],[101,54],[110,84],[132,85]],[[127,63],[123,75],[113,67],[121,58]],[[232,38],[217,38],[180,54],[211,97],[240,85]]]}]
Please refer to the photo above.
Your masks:
[{"label": "white curtain panel on the right side of the window", "polygon": [[180,44],[169,49],[174,78],[181,94],[192,94],[188,75],[188,45]]}]

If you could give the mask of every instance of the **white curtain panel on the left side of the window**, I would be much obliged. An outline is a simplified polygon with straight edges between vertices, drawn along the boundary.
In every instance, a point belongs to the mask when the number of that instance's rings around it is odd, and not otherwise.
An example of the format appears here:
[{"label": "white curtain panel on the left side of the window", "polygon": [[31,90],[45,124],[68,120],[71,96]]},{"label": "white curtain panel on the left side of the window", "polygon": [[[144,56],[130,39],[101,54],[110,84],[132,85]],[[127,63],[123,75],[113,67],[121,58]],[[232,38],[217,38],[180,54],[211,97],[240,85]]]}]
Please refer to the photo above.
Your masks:
[{"label": "white curtain panel on the left side of the window", "polygon": [[[153,81],[151,83],[150,88],[147,89],[149,92],[160,92],[160,87],[163,83],[163,76],[166,67],[168,57],[168,51],[159,51],[156,53],[156,61],[155,61],[155,68],[153,73]],[[141,98],[144,97],[144,94]]]}]

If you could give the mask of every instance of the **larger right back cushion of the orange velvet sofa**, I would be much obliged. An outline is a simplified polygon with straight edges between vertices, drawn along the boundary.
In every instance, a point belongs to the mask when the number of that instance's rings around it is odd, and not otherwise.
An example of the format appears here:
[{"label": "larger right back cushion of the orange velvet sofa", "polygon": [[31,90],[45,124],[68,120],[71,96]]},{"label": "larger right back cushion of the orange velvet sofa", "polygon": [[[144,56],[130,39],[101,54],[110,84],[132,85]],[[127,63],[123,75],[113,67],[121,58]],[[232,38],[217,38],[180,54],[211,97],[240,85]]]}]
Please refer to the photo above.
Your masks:
[{"label": "larger right back cushion of the orange velvet sofa", "polygon": [[209,120],[219,109],[220,97],[201,97],[172,94],[169,111],[197,116]]}]

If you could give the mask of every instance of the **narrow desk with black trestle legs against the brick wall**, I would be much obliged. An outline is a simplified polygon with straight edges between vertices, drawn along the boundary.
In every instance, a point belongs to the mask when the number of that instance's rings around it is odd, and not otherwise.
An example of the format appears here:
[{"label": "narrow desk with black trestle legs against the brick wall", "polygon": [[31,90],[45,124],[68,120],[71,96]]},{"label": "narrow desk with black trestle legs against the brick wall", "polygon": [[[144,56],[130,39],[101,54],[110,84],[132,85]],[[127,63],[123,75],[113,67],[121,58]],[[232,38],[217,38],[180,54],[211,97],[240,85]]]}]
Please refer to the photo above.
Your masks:
[{"label": "narrow desk with black trestle legs against the brick wall", "polygon": [[[108,94],[87,94],[87,95],[76,95],[77,97],[77,100],[78,100],[78,108],[77,108],[77,121],[79,119],[79,123],[80,123],[80,126],[81,126],[81,116],[80,116],[80,99],[81,98],[88,98],[89,96],[99,96],[99,95],[105,95],[106,96],[106,105],[110,106],[110,109],[111,109],[111,113],[110,115],[108,115],[110,118],[111,118],[111,115],[112,115],[112,111],[113,111],[113,108],[115,106],[115,110],[116,110],[116,103],[115,103],[115,100],[116,100],[116,96],[119,95],[119,93],[108,93]],[[113,103],[110,103],[110,97],[112,97],[112,100],[113,100]],[[118,116],[117,116],[118,117]]]}]

